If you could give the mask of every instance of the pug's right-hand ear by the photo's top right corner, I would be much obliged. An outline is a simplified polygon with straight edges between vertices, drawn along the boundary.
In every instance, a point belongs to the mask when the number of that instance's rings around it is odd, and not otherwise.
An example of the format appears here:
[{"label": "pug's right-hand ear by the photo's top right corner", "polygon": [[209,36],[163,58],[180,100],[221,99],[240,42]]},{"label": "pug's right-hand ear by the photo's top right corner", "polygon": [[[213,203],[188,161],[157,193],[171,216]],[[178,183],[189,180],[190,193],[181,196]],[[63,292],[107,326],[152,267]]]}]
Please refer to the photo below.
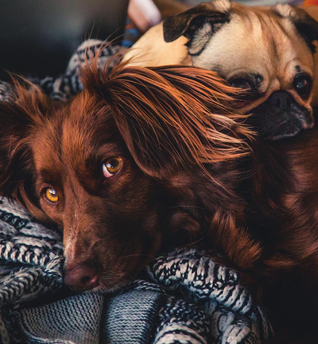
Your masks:
[{"label": "pug's right-hand ear by the photo's top right corner", "polygon": [[290,18],[296,30],[309,46],[311,52],[315,53],[316,47],[312,42],[318,40],[318,22],[304,9],[299,7],[278,4],[275,9],[282,17]]}]

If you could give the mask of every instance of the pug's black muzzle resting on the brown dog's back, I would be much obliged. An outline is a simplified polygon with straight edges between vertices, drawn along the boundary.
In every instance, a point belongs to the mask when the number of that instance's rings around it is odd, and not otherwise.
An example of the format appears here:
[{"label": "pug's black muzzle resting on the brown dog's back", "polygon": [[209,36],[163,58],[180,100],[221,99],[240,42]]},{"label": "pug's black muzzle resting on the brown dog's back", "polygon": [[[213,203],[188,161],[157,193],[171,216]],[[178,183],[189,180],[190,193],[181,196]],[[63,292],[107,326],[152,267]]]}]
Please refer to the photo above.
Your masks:
[{"label": "pug's black muzzle resting on the brown dog's back", "polygon": [[300,106],[286,91],[276,91],[252,110],[249,124],[266,140],[295,136],[314,126],[312,110]]}]

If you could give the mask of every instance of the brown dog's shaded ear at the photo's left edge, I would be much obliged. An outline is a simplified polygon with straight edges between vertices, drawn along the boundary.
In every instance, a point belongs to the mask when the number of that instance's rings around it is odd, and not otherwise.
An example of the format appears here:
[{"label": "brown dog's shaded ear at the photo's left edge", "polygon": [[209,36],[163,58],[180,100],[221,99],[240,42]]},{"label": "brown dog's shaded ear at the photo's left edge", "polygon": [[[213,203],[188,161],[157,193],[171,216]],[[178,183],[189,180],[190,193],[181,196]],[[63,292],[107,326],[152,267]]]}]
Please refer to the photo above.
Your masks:
[{"label": "brown dog's shaded ear at the photo's left edge", "polygon": [[36,86],[14,83],[11,101],[0,101],[0,196],[16,199],[44,219],[33,196],[35,168],[28,137],[44,116],[47,99]]}]

